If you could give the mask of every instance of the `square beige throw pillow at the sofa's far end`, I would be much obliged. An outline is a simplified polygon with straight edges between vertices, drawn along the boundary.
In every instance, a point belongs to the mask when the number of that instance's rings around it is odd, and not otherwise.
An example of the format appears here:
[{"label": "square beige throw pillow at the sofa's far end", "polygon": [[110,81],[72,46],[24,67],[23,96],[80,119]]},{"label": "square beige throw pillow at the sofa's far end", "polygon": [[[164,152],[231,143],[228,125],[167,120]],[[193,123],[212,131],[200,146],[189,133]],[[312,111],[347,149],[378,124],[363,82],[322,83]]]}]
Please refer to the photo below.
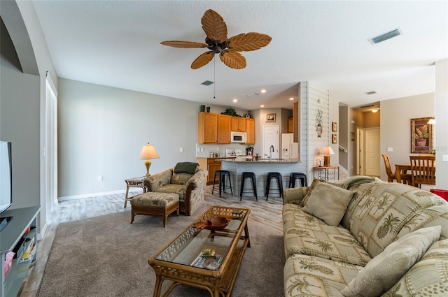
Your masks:
[{"label": "square beige throw pillow at the sofa's far end", "polygon": [[330,226],[337,226],[344,217],[353,194],[353,191],[317,182],[302,210],[323,219]]}]

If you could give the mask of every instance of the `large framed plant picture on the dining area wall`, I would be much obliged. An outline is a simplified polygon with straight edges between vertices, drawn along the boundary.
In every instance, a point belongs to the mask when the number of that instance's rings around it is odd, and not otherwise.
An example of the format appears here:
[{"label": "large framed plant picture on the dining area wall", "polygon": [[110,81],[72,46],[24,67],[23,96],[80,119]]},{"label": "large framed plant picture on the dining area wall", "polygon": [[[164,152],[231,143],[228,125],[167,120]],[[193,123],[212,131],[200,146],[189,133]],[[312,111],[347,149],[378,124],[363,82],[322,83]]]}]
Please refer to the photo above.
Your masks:
[{"label": "large framed plant picture on the dining area wall", "polygon": [[430,117],[411,119],[411,153],[431,154],[433,152],[433,125]]}]

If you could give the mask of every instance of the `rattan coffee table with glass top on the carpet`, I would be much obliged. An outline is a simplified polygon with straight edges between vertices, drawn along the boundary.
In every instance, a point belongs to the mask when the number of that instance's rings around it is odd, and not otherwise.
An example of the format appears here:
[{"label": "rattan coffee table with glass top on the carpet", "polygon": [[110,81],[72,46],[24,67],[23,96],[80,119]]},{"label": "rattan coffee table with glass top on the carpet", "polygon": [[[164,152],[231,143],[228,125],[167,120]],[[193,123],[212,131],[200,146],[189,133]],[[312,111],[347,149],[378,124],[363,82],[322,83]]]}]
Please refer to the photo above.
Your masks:
[{"label": "rattan coffee table with glass top on the carpet", "polygon": [[[154,297],[168,296],[179,284],[230,296],[246,247],[251,246],[248,208],[211,206],[179,236],[148,260],[155,270]],[[211,217],[230,219],[222,230],[195,228]],[[162,283],[172,281],[162,293]],[[162,295],[161,295],[162,294]]]}]

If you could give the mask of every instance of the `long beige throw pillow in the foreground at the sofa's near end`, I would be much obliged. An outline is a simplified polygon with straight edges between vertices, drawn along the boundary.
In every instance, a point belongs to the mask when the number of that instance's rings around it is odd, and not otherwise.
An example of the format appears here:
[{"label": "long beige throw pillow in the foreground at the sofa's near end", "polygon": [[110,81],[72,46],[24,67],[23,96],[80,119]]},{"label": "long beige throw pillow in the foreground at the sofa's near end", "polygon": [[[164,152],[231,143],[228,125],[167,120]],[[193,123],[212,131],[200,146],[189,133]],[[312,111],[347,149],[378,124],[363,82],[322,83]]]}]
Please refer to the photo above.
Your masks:
[{"label": "long beige throw pillow in the foreground at the sofa's near end", "polygon": [[376,297],[390,289],[433,244],[439,240],[441,226],[408,233],[388,245],[361,269],[341,291],[346,297]]}]

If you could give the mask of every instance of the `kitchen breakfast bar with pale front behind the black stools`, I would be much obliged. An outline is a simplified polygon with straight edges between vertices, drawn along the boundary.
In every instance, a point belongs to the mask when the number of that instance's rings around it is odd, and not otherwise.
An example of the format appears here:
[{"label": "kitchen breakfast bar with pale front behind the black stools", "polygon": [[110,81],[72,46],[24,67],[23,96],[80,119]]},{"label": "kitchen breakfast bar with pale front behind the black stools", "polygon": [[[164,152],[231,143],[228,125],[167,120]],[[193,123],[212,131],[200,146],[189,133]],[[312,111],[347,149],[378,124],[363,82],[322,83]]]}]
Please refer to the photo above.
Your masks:
[{"label": "kitchen breakfast bar with pale front behind the black stools", "polygon": [[[234,195],[239,196],[239,190],[241,187],[241,173],[248,171],[255,173],[256,187],[258,198],[265,196],[265,187],[267,181],[268,172],[278,172],[281,174],[281,180],[283,181],[283,189],[288,187],[289,175],[292,172],[301,172],[301,163],[298,159],[255,159],[249,157],[237,157],[235,159],[221,159],[222,169],[230,171],[230,178],[232,180],[232,191]],[[216,188],[216,185],[215,185]],[[270,197],[280,197],[280,194],[276,194],[275,190],[277,184],[272,180],[270,185]],[[244,182],[244,196],[253,196],[251,194],[252,184],[251,180]]]}]

